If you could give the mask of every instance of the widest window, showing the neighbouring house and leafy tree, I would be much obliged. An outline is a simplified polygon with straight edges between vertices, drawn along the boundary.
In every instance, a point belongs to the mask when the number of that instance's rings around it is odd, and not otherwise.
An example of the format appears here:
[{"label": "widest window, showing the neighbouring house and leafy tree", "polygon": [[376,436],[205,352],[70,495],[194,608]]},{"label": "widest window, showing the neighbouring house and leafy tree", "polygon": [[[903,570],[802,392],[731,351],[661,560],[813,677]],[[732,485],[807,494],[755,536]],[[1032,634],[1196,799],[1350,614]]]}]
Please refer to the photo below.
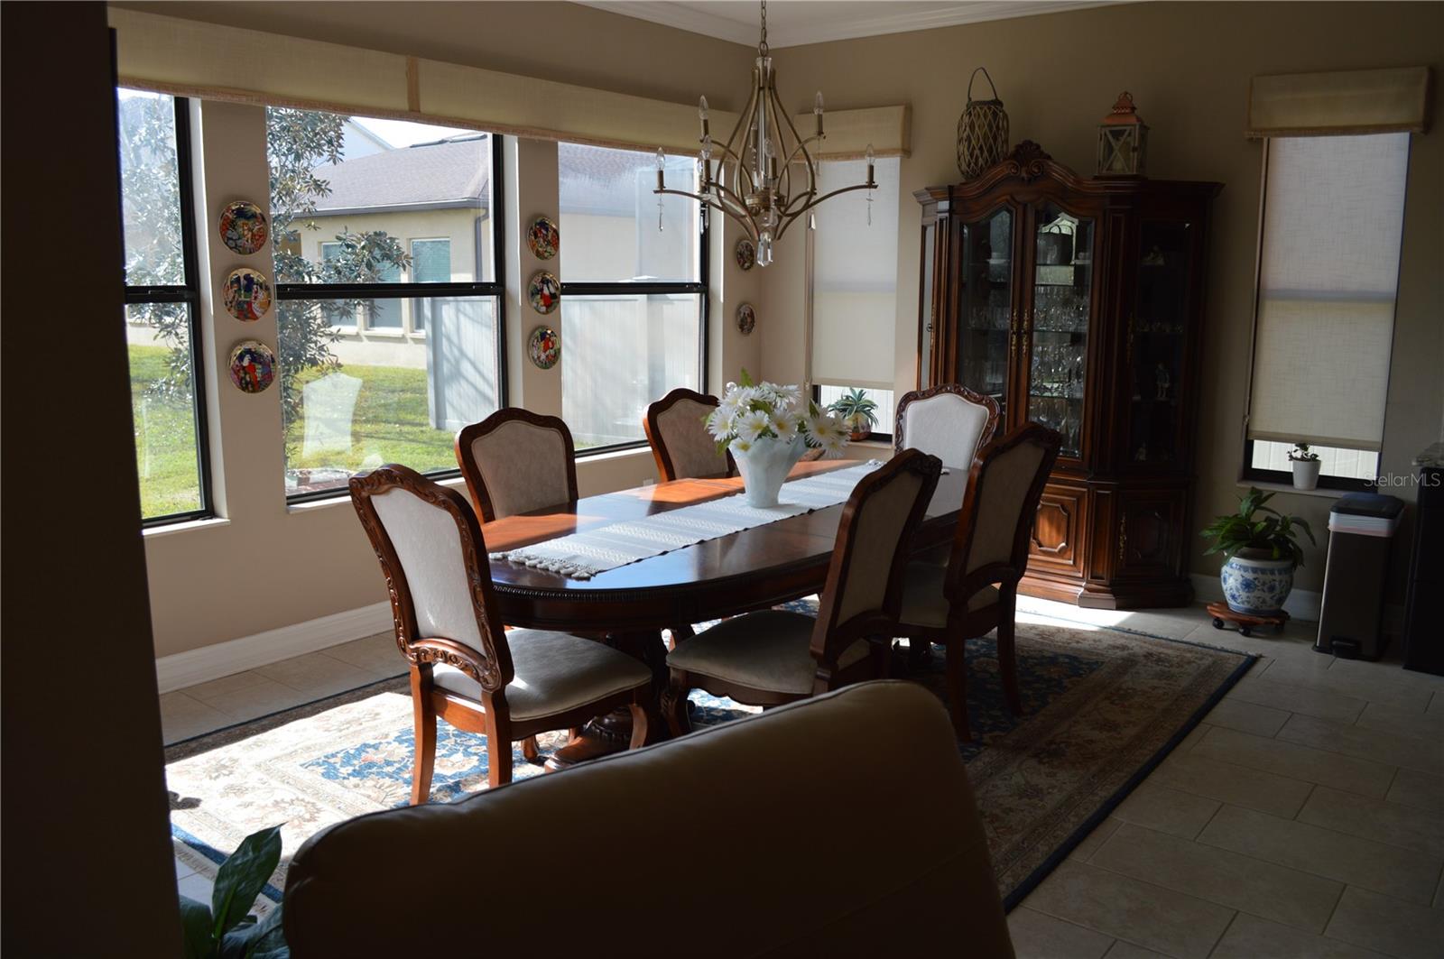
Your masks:
[{"label": "widest window, showing the neighbouring house and leafy tree", "polygon": [[267,137],[287,497],[455,472],[505,403],[497,137],[277,107]]}]

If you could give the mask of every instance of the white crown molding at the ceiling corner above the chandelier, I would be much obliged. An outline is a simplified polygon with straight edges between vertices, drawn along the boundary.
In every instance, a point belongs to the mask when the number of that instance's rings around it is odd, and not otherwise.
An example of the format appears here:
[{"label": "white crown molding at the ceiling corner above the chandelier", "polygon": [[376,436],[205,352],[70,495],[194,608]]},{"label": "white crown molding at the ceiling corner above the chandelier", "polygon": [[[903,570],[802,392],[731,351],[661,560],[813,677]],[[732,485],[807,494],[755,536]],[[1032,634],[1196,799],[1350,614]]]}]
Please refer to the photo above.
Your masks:
[{"label": "white crown molding at the ceiling corner above the chandelier", "polygon": [[[1126,1],[1129,0],[966,0],[936,10],[879,12],[872,16],[832,17],[799,26],[773,22],[767,27],[767,42],[773,49],[781,49],[807,43],[826,43],[829,40],[881,36],[885,33],[928,30],[962,23],[982,23],[985,20],[1008,20],[1061,13],[1064,10],[1105,7]],[[687,30],[689,33],[702,33],[719,40],[742,43],[745,46],[757,45],[757,25],[719,17],[682,3],[670,3],[669,0],[580,0],[580,3],[598,10]]]}]

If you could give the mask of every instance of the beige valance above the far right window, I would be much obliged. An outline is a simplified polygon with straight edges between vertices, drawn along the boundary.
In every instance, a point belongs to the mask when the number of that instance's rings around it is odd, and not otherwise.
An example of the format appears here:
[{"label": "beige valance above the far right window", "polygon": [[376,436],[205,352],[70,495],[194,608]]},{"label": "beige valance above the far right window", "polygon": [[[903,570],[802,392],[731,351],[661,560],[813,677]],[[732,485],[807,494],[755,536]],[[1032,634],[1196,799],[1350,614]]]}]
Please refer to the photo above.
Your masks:
[{"label": "beige valance above the far right window", "polygon": [[1424,133],[1431,87],[1428,66],[1255,77],[1245,136]]}]

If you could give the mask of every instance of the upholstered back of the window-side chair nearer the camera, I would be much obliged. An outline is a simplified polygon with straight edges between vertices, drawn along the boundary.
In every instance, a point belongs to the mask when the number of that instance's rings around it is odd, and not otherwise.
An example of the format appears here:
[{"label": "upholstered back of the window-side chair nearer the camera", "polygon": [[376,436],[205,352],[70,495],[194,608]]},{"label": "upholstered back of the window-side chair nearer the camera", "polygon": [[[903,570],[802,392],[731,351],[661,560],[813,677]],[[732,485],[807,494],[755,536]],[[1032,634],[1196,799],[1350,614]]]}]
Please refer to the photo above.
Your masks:
[{"label": "upholstered back of the window-side chair nearer the camera", "polygon": [[464,426],[456,465],[484,523],[576,500],[576,445],[557,416],[508,407]]}]

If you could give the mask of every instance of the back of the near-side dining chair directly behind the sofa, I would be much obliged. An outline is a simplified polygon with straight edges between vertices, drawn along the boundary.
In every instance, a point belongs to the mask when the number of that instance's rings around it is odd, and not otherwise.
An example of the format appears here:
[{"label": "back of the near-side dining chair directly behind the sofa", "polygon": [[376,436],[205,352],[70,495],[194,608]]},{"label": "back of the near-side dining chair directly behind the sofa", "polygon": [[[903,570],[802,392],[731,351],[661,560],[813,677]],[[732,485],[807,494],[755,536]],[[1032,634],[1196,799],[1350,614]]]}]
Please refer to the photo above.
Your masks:
[{"label": "back of the near-side dining chair directly behind the sofa", "polygon": [[813,657],[833,664],[858,638],[891,635],[902,570],[943,464],[917,449],[894,456],[853,488],[838,524],[827,585],[817,607]]}]

